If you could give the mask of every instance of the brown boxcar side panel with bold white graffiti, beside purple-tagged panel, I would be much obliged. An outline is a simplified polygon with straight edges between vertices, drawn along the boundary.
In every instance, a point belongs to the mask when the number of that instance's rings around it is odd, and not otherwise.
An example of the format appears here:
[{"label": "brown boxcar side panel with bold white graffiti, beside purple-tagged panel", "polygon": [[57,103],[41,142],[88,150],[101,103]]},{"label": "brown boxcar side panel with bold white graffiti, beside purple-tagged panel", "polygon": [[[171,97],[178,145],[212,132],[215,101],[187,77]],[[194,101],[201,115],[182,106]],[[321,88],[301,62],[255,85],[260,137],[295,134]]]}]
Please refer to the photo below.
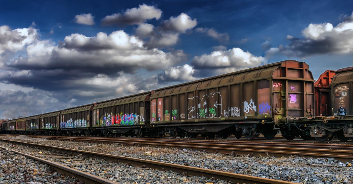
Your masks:
[{"label": "brown boxcar side panel with bold white graffiti, beside purple-tagged panel", "polygon": [[257,112],[256,98],[254,94],[254,82],[243,84],[244,116],[255,116]]}]

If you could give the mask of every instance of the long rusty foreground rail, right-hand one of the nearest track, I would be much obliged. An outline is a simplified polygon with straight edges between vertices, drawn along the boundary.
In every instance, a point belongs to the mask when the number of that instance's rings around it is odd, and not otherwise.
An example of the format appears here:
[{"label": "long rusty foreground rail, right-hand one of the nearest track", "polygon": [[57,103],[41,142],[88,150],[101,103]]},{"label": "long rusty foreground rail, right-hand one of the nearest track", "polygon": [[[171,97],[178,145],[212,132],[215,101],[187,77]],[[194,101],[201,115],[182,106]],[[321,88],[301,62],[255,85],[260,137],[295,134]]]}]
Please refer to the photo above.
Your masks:
[{"label": "long rusty foreground rail, right-hand one of the nearest track", "polygon": [[1,141],[16,142],[16,143],[20,143],[20,144],[27,144],[27,145],[32,145],[32,146],[39,146],[39,147],[43,147],[43,148],[59,149],[63,152],[65,152],[65,151],[71,152],[71,153],[73,152],[73,153],[78,153],[78,154],[89,155],[91,157],[104,158],[107,160],[112,160],[112,161],[116,161],[119,163],[125,163],[125,164],[133,165],[136,167],[150,167],[150,168],[155,168],[155,169],[159,169],[162,171],[163,170],[164,171],[171,170],[173,172],[180,172],[180,173],[186,172],[188,175],[192,175],[192,176],[205,176],[205,177],[209,177],[209,178],[215,177],[215,178],[219,178],[219,179],[223,179],[223,180],[227,180],[227,181],[235,182],[235,183],[256,182],[257,184],[294,184],[293,182],[287,182],[287,181],[282,181],[282,180],[261,178],[261,177],[255,177],[255,176],[247,176],[244,174],[215,171],[215,170],[209,170],[209,169],[198,168],[198,167],[170,164],[170,163],[166,163],[166,162],[144,160],[144,159],[137,159],[137,158],[130,158],[130,157],[122,157],[122,156],[118,156],[118,155],[88,152],[88,151],[81,151],[81,150],[77,150],[77,149],[61,148],[61,147],[55,147],[55,146],[40,145],[40,144],[6,140],[6,139],[0,139],[0,140]]}]

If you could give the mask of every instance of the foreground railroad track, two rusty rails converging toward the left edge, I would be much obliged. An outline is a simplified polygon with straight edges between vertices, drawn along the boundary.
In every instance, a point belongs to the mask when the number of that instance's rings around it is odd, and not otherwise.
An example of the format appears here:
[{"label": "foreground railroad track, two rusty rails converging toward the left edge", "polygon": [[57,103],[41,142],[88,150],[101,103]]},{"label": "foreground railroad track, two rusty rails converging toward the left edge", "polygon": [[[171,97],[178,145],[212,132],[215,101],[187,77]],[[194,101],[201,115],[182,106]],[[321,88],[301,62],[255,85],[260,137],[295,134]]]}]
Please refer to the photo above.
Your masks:
[{"label": "foreground railroad track, two rusty rails converging toward the left edge", "polygon": [[[14,150],[14,149],[17,149],[17,146],[14,146],[14,148],[11,148],[11,151],[17,154],[22,154],[26,157],[30,157],[32,159],[44,162],[46,164],[49,164],[53,166],[55,170],[65,172],[66,174],[69,174],[69,175],[74,175],[75,177],[81,179],[86,183],[114,183],[114,182],[104,178],[99,178],[89,173],[84,173],[78,170],[74,170],[70,167],[67,167],[67,165],[70,165],[70,164],[62,164],[61,163],[62,160],[64,159],[64,160],[75,161],[77,162],[75,163],[76,165],[94,164],[94,162],[87,163],[84,161],[85,157],[89,157],[91,158],[90,160],[92,160],[92,158],[93,160],[104,159],[104,160],[109,160],[113,162],[125,163],[127,165],[132,165],[135,167],[156,168],[162,171],[170,170],[174,172],[187,173],[187,175],[192,175],[192,176],[205,176],[209,178],[215,177],[215,178],[220,178],[220,179],[227,180],[230,182],[235,182],[235,183],[257,183],[257,184],[291,184],[292,183],[292,182],[286,182],[282,180],[247,176],[244,174],[236,174],[236,173],[214,171],[214,170],[190,167],[190,166],[184,166],[184,165],[169,164],[166,162],[143,160],[143,159],[137,159],[137,158],[129,158],[129,157],[122,157],[118,155],[109,155],[109,154],[95,153],[95,152],[88,152],[88,151],[80,151],[76,149],[61,148],[61,147],[48,146],[48,145],[39,145],[34,143],[26,143],[26,142],[19,142],[19,141],[13,141],[13,140],[5,140],[5,139],[0,139],[0,140],[5,142],[11,142],[12,145],[13,144],[24,145],[21,147],[21,149],[24,149],[28,153],[32,153],[31,155],[20,153]],[[9,149],[5,147],[1,147],[1,148]],[[43,150],[43,152],[42,153],[38,152],[38,149]],[[81,156],[82,158],[80,157],[79,159],[77,159],[77,155],[82,155]]]}]

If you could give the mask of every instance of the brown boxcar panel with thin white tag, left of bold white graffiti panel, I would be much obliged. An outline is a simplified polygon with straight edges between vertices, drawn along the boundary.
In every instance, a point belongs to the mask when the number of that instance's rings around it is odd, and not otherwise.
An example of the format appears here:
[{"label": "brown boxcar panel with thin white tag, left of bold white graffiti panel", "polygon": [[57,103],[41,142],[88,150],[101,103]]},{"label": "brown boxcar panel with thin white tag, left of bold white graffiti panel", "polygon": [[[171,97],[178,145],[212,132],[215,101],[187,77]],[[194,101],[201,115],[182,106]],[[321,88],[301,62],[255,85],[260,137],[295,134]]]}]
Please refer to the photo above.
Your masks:
[{"label": "brown boxcar panel with thin white tag, left of bold white graffiti panel", "polygon": [[[229,116],[230,117],[240,117],[243,116],[243,103],[241,98],[240,84],[235,84],[230,86],[230,105],[229,105]],[[223,100],[224,101],[224,100]]]}]

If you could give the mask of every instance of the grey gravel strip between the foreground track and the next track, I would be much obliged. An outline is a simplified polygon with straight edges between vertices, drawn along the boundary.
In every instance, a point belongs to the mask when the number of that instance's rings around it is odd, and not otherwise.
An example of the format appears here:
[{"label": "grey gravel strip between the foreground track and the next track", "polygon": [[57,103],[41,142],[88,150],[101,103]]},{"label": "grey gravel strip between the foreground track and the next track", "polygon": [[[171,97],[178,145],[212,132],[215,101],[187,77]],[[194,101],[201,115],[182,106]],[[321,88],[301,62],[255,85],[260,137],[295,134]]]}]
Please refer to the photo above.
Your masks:
[{"label": "grey gravel strip between the foreground track and the next track", "polygon": [[[262,155],[262,157],[237,156],[175,148],[129,147],[119,145],[118,143],[105,145],[98,143],[57,141],[31,138],[28,136],[3,136],[0,137],[0,139],[11,139],[125,157],[162,161],[172,164],[247,174],[295,183],[353,183],[353,166],[350,166],[353,160],[351,162],[342,163],[333,158],[302,158],[297,156],[276,158],[269,157],[268,155]],[[205,182],[217,183],[217,181],[214,180],[207,180]]]}]

